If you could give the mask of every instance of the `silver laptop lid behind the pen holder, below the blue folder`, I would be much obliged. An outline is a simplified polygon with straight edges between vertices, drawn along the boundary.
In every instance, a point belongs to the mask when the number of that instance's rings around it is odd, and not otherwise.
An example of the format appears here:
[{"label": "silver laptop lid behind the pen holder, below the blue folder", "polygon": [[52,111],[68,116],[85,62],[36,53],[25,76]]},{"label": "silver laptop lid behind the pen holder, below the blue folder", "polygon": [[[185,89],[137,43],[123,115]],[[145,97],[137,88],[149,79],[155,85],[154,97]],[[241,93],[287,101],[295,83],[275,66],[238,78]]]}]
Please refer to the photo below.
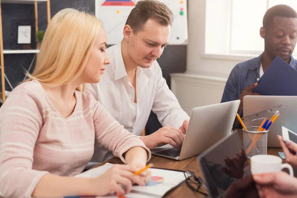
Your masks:
[{"label": "silver laptop lid behind the pen holder, below the blue folder", "polygon": [[269,127],[267,147],[281,148],[276,136],[282,136],[282,126],[297,131],[297,96],[244,97],[244,117],[281,104],[280,116]]}]

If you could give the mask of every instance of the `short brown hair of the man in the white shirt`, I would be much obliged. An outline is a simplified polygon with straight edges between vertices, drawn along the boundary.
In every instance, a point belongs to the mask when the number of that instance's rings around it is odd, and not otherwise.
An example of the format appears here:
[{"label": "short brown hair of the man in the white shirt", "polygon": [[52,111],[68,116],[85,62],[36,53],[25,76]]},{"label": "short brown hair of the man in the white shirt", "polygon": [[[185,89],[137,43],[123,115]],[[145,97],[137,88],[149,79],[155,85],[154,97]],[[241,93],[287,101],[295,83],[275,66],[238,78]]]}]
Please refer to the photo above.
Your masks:
[{"label": "short brown hair of the man in the white shirt", "polygon": [[160,25],[172,25],[173,13],[167,5],[158,0],[140,0],[131,10],[126,25],[129,25],[134,34],[143,30],[148,19],[152,19]]}]

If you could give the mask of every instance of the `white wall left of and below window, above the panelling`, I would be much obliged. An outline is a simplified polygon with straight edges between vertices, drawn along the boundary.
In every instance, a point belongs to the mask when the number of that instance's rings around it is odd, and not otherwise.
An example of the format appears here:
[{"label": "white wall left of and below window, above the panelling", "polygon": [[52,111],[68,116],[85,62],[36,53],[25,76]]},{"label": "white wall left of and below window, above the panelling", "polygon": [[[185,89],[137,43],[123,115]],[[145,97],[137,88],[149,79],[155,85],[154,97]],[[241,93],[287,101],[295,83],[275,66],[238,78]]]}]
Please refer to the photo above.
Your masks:
[{"label": "white wall left of and below window, above the panelling", "polygon": [[[187,72],[189,74],[228,78],[232,68],[253,56],[204,55],[206,0],[189,0]],[[220,37],[220,28],[217,37]],[[225,33],[223,33],[225,34]]]}]

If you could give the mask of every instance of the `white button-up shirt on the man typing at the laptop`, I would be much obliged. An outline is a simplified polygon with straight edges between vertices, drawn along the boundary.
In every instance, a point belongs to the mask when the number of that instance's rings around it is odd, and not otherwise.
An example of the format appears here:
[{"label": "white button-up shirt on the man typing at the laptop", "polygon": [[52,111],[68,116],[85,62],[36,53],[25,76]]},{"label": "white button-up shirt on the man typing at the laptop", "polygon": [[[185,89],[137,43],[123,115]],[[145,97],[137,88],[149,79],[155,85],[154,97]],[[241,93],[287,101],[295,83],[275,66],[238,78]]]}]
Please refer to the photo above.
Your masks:
[{"label": "white button-up shirt on the man typing at the laptop", "polygon": [[[87,84],[86,88],[125,129],[140,136],[147,124],[150,110],[158,116],[163,126],[179,129],[184,120],[189,119],[169,90],[157,61],[149,68],[137,68],[135,103],[134,87],[127,76],[121,45],[106,49],[106,53],[110,64],[106,66],[100,82]],[[102,162],[112,156],[105,148],[95,148],[91,161]]]}]

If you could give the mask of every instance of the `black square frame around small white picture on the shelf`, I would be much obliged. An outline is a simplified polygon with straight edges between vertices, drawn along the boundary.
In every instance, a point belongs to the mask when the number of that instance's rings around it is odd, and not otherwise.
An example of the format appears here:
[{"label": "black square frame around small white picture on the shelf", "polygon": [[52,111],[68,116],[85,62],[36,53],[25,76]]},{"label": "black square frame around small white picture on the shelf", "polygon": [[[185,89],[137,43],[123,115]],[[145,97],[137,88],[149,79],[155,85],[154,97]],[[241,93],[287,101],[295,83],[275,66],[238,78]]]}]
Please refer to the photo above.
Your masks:
[{"label": "black square frame around small white picture on the shelf", "polygon": [[12,19],[10,49],[36,49],[34,19]]}]

